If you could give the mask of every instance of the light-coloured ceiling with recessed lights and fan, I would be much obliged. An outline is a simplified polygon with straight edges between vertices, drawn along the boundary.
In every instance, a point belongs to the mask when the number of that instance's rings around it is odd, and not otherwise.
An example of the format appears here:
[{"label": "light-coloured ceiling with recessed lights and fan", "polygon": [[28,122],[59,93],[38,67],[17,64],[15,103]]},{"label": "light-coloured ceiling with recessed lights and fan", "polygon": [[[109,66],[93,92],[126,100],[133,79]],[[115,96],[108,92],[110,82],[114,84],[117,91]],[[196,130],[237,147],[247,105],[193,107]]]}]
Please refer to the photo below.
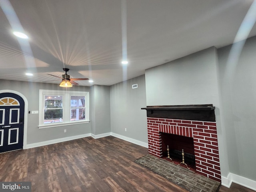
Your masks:
[{"label": "light-coloured ceiling with recessed lights and fan", "polygon": [[[210,46],[232,44],[252,2],[0,0],[0,79],[58,80],[47,74],[61,76],[69,68],[71,78],[94,80],[79,85],[116,84]],[[12,34],[22,28],[29,39]],[[248,37],[255,35],[254,25]],[[121,64],[126,48],[127,68]]]}]

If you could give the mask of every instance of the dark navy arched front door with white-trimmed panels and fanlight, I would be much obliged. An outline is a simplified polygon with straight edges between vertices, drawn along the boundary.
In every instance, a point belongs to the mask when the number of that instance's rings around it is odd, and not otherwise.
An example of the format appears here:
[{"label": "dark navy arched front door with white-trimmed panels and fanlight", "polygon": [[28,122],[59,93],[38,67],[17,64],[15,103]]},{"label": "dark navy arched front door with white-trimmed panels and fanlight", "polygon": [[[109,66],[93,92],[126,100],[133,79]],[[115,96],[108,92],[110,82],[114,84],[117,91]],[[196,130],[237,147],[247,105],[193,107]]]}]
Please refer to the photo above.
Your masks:
[{"label": "dark navy arched front door with white-trimmed panels and fanlight", "polygon": [[0,153],[23,148],[24,100],[14,93],[0,94]]}]

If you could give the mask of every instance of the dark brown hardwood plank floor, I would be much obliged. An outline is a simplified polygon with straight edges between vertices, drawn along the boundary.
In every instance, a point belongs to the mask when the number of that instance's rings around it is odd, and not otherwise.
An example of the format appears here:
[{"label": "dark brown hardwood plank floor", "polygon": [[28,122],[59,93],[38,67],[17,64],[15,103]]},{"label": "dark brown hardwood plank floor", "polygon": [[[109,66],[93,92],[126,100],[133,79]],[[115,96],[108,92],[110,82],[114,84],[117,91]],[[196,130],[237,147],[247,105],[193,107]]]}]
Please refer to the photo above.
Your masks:
[{"label": "dark brown hardwood plank floor", "polygon": [[[108,136],[0,154],[1,182],[32,182],[33,192],[187,192],[133,161],[148,149]],[[232,184],[220,192],[253,192]]]}]

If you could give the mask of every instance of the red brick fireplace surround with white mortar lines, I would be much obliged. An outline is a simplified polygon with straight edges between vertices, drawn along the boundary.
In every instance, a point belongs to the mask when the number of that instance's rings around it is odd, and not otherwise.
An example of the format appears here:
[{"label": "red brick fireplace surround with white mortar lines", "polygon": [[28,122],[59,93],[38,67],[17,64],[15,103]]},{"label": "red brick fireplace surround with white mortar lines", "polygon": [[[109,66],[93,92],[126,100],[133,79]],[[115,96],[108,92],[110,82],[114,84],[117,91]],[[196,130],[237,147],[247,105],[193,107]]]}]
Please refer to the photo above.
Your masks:
[{"label": "red brick fireplace surround with white mortar lines", "polygon": [[192,137],[196,172],[221,181],[216,122],[148,118],[148,152],[162,157],[160,132]]}]

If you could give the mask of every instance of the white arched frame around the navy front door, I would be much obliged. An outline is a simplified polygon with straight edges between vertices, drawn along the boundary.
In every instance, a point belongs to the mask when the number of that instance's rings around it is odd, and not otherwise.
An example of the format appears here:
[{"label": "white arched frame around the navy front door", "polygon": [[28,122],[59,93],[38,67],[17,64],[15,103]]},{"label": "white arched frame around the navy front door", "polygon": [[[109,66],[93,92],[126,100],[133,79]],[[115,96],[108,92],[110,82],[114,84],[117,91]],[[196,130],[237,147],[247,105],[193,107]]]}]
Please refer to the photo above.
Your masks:
[{"label": "white arched frame around the navy front door", "polygon": [[24,106],[23,149],[26,149],[27,148],[27,128],[28,128],[28,100],[23,94],[14,90],[0,90],[0,93],[14,93],[20,96],[24,100],[25,106]]}]

